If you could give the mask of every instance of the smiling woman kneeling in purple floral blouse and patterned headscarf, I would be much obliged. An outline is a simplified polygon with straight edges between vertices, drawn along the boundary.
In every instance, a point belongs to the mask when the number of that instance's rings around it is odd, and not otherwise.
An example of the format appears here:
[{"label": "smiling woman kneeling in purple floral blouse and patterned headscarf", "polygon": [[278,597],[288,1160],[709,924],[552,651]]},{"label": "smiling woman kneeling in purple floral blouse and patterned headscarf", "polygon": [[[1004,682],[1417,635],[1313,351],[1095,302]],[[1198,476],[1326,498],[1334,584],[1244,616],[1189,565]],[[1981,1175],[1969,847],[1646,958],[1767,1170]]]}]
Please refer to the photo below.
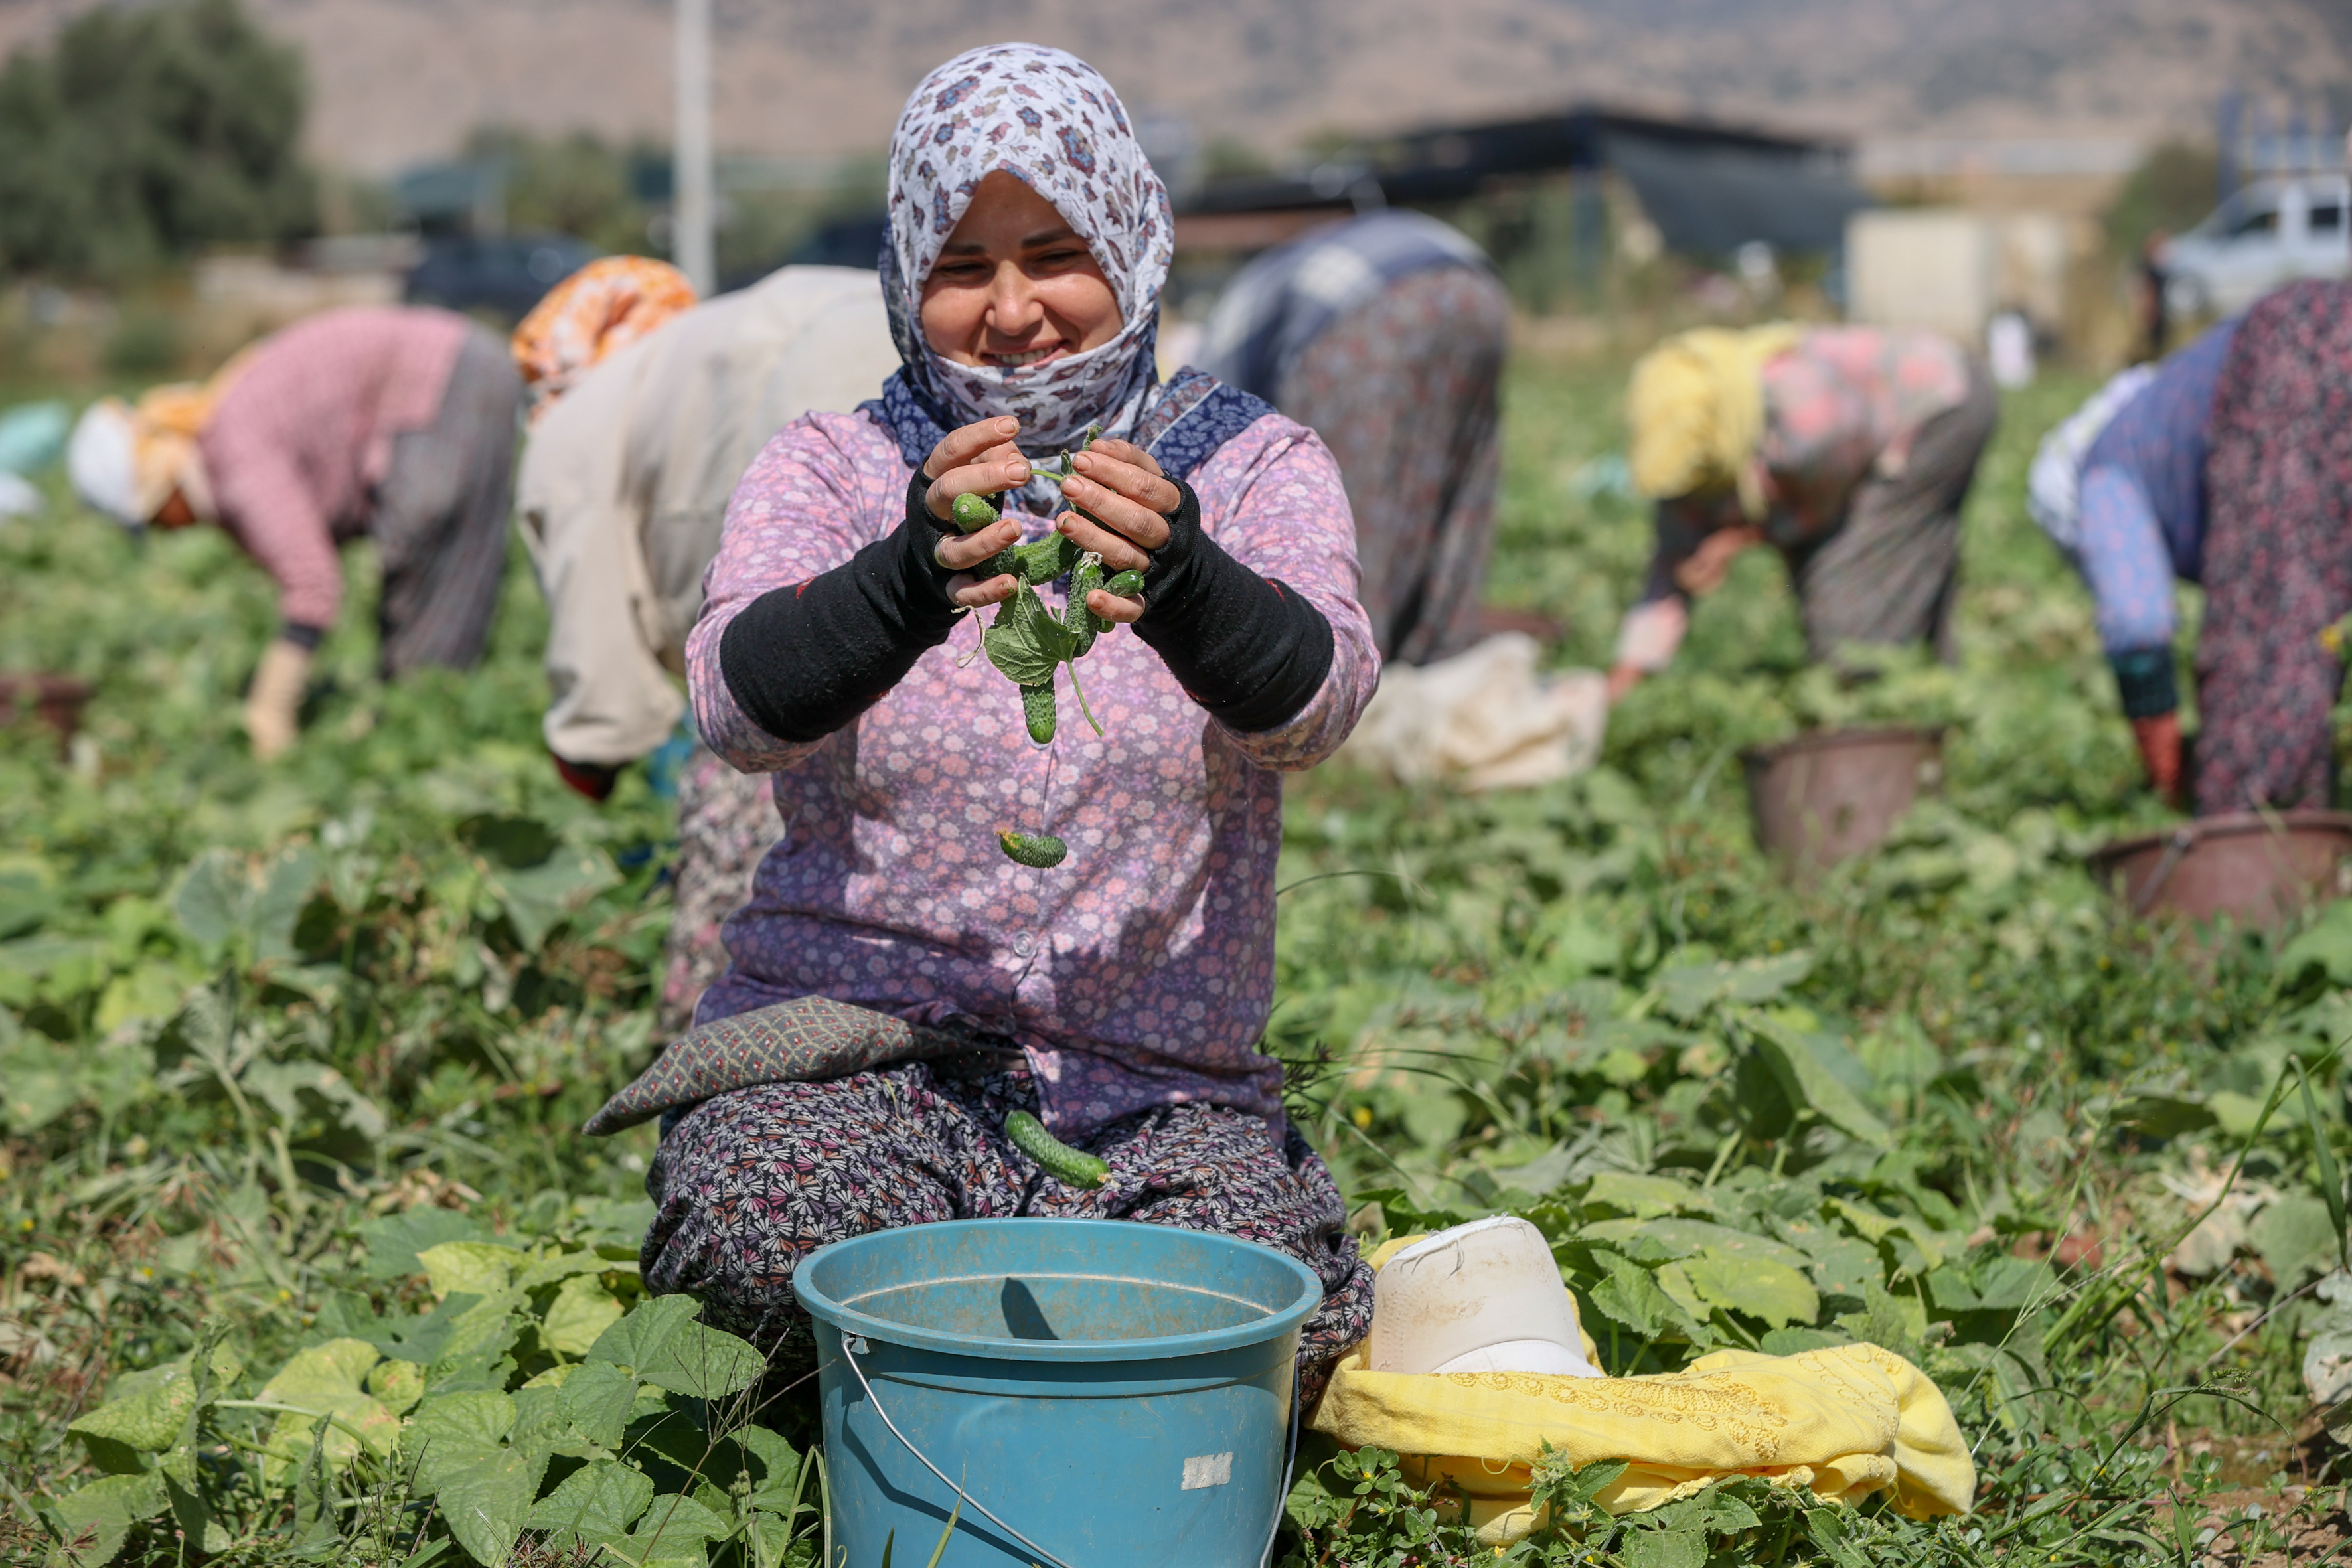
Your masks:
[{"label": "smiling woman kneeling in purple floral blouse and patterned headscarf", "polygon": [[[901,369],[743,475],[687,649],[703,738],[774,773],[783,818],[696,1018],[821,997],[978,1048],[673,1110],[644,1276],[793,1366],[811,1345],[793,1267],[840,1237],[1002,1215],[1214,1229],[1322,1276],[1312,1396],[1371,1321],[1371,1272],[1256,1041],[1282,771],[1338,748],[1378,677],[1338,468],[1256,397],[1157,383],[1169,200],[1082,61],[1002,45],[934,71],[898,118],[889,219]],[[1033,477],[1091,425],[1061,491]],[[955,529],[957,496],[1000,491],[1000,522]],[[1037,748],[960,628],[1016,588],[971,569],[1056,529],[1145,581],[1089,595],[1131,628],[1087,661],[1105,733]],[[1004,827],[1063,837],[1068,860],[1011,863]],[[1016,1150],[1021,1110],[1108,1180],[1070,1187]]]}]

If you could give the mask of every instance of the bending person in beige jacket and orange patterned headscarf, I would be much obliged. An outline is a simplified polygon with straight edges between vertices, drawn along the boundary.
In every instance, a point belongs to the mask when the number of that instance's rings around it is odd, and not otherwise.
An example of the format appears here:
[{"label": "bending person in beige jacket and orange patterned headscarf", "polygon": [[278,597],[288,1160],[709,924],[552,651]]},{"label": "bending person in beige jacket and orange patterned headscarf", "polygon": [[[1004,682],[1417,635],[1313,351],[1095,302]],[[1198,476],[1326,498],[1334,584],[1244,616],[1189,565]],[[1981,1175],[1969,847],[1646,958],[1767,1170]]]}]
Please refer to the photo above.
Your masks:
[{"label": "bending person in beige jacket and orange patterned headscarf", "polygon": [[[633,268],[583,268],[515,334],[539,393],[517,512],[548,595],[543,729],[564,780],[593,799],[677,731],[687,632],[741,473],[776,430],[854,409],[898,367],[875,273],[788,266],[647,322],[675,289],[647,287],[661,263],[614,261]],[[628,341],[600,353],[609,336]],[[668,1027],[691,1020],[724,969],[720,924],[781,832],[769,778],[696,745],[677,827]]]}]

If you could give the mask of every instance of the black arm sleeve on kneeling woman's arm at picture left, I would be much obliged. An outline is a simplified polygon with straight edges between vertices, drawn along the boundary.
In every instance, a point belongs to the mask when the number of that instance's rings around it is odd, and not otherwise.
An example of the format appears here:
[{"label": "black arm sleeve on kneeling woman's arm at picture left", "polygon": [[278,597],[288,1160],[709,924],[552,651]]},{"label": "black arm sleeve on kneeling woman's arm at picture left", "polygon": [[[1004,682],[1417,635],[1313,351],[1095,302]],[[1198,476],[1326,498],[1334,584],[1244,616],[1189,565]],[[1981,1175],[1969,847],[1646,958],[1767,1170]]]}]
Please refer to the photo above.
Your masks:
[{"label": "black arm sleeve on kneeling woman's arm at picture left", "polygon": [[833,571],[774,588],[720,635],[720,675],[753,724],[779,741],[823,741],[906,679],[955,630],[948,578],[931,552],[948,524],[908,482],[906,522]]}]

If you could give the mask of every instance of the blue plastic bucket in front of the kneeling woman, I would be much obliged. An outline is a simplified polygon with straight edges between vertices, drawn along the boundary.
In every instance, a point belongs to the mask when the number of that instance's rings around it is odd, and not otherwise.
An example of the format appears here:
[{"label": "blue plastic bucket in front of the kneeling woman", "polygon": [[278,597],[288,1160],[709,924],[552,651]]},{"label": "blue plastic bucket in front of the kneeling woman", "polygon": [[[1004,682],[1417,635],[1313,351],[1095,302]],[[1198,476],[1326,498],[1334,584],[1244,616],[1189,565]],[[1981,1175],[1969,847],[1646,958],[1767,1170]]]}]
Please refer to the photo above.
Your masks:
[{"label": "blue plastic bucket in front of the kneeling woman", "polygon": [[1322,1302],[1305,1265],[1164,1225],[950,1220],[818,1248],[793,1293],[826,1568],[880,1568],[884,1542],[922,1568],[950,1514],[941,1568],[1258,1568]]}]

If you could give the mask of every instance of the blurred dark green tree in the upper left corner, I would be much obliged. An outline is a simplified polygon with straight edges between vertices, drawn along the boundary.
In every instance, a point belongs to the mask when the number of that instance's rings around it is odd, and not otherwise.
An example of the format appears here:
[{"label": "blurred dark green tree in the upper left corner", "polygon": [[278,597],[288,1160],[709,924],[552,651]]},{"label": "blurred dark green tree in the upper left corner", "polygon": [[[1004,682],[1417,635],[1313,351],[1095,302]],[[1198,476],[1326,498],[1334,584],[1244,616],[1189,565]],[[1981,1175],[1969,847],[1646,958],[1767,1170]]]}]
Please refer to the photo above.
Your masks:
[{"label": "blurred dark green tree in the upper left corner", "polygon": [[[310,233],[303,101],[299,54],[238,0],[85,9],[0,68],[0,261],[125,280]],[[148,369],[153,353],[113,357]]]}]

